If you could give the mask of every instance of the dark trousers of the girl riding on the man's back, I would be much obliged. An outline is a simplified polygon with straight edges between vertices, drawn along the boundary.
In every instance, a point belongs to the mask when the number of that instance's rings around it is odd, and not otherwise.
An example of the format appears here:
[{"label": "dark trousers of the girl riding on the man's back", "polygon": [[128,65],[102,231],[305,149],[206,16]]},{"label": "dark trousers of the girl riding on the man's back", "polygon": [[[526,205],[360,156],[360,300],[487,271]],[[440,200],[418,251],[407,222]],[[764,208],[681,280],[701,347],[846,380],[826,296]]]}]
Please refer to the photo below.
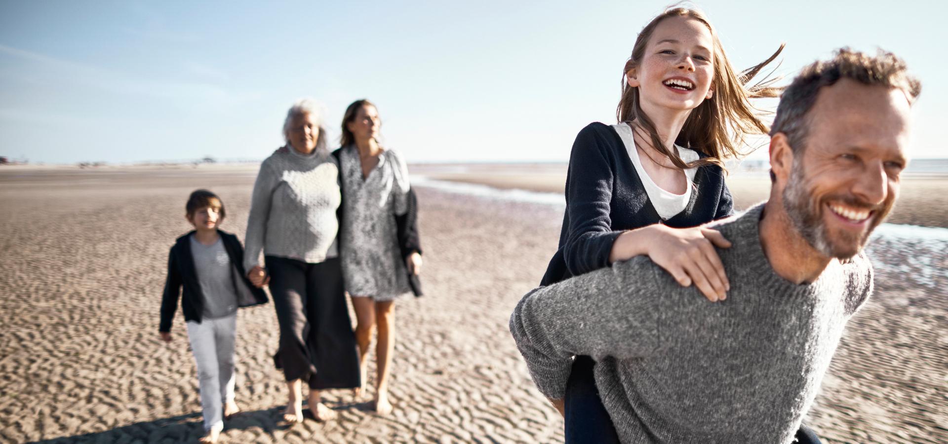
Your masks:
[{"label": "dark trousers of the girl riding on the man's back", "polygon": [[[619,444],[619,435],[595,386],[593,365],[595,362],[589,356],[576,356],[573,362],[573,371],[566,383],[566,444]],[[810,427],[800,423],[795,442],[820,444],[820,438]]]}]

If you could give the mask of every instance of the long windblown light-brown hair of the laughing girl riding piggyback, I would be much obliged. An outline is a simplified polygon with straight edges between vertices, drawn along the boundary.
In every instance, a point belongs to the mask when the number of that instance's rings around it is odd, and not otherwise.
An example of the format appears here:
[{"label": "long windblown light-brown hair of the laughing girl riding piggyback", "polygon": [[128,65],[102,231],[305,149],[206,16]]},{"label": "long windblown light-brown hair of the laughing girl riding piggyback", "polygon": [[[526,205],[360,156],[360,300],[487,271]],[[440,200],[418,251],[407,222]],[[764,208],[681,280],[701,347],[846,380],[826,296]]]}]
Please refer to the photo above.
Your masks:
[{"label": "long windblown light-brown hair of the laughing girl riding piggyback", "polygon": [[[707,157],[687,164],[678,156],[677,151],[669,151],[665,148],[665,143],[659,136],[655,124],[642,110],[639,89],[629,86],[627,82],[629,71],[638,68],[639,62],[645,58],[648,41],[655,32],[655,28],[669,17],[685,17],[701,22],[711,31],[711,37],[714,40],[714,75],[711,80],[714,95],[712,98],[702,100],[698,107],[691,110],[691,114],[684,121],[682,132],[675,138],[676,144],[702,151],[707,154]],[[638,127],[636,130],[641,129],[647,133],[652,147],[668,157],[680,169],[702,165],[723,167],[724,158],[739,157],[744,154],[739,147],[744,145],[748,134],[768,132],[767,125],[760,120],[761,113],[751,104],[750,99],[777,97],[781,88],[773,84],[779,78],[769,80],[765,78],[754,85],[748,85],[748,83],[757,77],[764,66],[774,62],[783,51],[783,47],[784,45],[780,44],[780,47],[767,60],[738,74],[728,61],[727,55],[724,54],[724,47],[720,44],[718,33],[702,11],[687,8],[666,9],[648,22],[635,39],[632,55],[622,70],[622,98],[616,107],[615,116],[619,122],[634,120],[635,126]]]}]

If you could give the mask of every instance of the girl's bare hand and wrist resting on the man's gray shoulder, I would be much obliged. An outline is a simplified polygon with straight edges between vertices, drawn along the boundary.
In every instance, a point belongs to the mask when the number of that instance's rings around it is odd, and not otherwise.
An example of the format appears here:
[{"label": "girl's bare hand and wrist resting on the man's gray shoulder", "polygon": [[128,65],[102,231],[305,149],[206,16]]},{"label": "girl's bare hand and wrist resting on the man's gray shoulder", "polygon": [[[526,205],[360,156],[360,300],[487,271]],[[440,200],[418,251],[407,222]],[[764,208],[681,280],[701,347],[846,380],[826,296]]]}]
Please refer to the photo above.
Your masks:
[{"label": "girl's bare hand and wrist resting on the man's gray shoulder", "polygon": [[[727,298],[731,284],[715,246],[729,248],[731,242],[712,228],[671,228],[655,223],[619,235],[610,259],[615,256],[615,260],[625,260],[645,254],[683,287],[694,283],[704,297],[716,302]],[[623,253],[634,254],[623,258]]]}]

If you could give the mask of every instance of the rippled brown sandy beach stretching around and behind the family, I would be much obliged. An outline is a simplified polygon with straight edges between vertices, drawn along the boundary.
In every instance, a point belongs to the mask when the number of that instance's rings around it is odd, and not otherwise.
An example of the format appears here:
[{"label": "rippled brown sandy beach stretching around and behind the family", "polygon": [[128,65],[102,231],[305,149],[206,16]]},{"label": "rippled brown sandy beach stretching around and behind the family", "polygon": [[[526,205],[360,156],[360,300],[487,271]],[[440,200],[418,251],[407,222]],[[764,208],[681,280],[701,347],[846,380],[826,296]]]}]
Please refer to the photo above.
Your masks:
[{"label": "rippled brown sandy beach stretching around and behind the family", "polygon": [[[184,202],[198,187],[222,197],[222,228],[243,239],[257,168],[0,169],[0,441],[202,434],[182,316],[173,343],[157,338],[165,263],[190,229]],[[543,165],[533,176],[496,166],[410,169],[435,182],[547,192],[561,192],[564,177]],[[906,181],[890,222],[948,226],[948,186],[921,181]],[[337,421],[282,425],[286,393],[270,361],[278,331],[267,304],[239,311],[244,413],[226,423],[224,442],[562,441],[562,419],[507,330],[556,249],[562,206],[418,184],[427,294],[397,304],[394,413],[379,417],[337,390],[326,395]],[[767,189],[766,176],[731,184],[738,206]],[[948,440],[948,237],[932,233],[873,240],[876,292],[850,321],[806,419],[824,442]]]}]

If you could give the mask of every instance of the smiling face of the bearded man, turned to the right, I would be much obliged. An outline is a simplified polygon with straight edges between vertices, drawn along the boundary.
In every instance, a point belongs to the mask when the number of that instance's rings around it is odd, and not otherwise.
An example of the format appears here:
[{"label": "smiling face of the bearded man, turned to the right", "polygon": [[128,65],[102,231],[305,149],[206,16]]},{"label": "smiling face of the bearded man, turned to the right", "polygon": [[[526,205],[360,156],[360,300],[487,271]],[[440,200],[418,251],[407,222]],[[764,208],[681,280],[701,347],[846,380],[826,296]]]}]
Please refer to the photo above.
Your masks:
[{"label": "smiling face of the bearded man, turned to the right", "polygon": [[807,114],[783,204],[803,239],[829,258],[858,254],[899,195],[909,102],[900,89],[839,80]]}]

